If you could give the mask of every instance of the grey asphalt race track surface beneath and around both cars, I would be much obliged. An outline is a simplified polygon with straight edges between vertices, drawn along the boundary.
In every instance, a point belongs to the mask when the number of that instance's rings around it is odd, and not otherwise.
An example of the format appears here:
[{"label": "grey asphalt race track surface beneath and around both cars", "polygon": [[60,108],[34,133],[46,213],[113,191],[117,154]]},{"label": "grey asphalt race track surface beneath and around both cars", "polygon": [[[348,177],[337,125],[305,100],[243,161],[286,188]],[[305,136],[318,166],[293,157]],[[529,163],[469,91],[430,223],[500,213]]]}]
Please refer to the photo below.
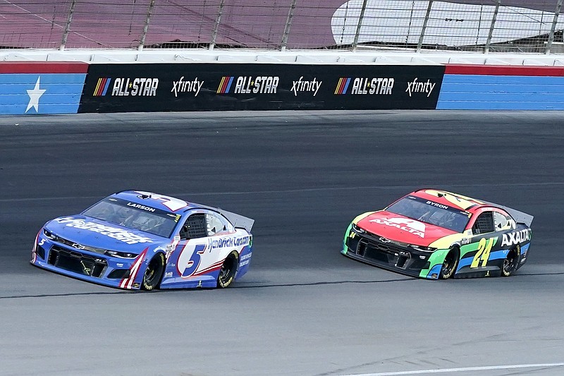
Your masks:
[{"label": "grey asphalt race track surface beneath and around both cars", "polygon": [[[562,375],[563,171],[560,112],[0,117],[0,375]],[[425,281],[339,253],[424,187],[533,214],[527,265]],[[44,222],[129,188],[254,218],[250,272],[130,293],[29,264]]]}]

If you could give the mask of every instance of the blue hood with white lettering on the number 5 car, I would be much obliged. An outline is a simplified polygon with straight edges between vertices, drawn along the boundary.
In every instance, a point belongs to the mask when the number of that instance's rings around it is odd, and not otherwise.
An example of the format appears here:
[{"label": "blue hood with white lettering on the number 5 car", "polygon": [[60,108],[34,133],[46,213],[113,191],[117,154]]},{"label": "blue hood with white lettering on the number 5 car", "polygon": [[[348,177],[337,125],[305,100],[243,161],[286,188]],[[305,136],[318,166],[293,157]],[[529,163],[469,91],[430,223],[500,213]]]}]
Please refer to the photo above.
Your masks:
[{"label": "blue hood with white lettering on the number 5 car", "polygon": [[44,226],[44,229],[80,245],[106,250],[124,250],[130,253],[140,253],[147,248],[147,245],[164,241],[160,236],[84,215],[53,219]]}]

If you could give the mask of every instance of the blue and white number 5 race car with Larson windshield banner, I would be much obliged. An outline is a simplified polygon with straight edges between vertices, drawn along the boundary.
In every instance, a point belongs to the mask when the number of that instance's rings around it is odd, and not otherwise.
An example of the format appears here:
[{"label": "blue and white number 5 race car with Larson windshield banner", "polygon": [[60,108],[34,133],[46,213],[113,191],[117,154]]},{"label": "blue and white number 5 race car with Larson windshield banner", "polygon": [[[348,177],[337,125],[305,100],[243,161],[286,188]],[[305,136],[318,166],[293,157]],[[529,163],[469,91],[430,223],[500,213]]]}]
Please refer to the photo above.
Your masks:
[{"label": "blue and white number 5 race car with Larson windshield banner", "polygon": [[252,256],[255,221],[214,207],[127,190],[37,234],[31,263],[122,289],[227,287]]}]

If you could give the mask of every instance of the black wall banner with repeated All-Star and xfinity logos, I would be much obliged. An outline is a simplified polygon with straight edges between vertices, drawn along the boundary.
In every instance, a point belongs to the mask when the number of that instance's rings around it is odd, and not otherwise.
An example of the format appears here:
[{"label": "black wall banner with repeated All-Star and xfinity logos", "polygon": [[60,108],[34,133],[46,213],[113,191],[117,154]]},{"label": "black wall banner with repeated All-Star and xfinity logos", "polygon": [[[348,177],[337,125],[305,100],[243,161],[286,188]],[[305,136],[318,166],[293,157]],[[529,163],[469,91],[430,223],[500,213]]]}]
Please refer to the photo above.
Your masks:
[{"label": "black wall banner with repeated All-Star and xfinity logos", "polygon": [[92,64],[79,112],[435,109],[444,70],[372,64]]}]

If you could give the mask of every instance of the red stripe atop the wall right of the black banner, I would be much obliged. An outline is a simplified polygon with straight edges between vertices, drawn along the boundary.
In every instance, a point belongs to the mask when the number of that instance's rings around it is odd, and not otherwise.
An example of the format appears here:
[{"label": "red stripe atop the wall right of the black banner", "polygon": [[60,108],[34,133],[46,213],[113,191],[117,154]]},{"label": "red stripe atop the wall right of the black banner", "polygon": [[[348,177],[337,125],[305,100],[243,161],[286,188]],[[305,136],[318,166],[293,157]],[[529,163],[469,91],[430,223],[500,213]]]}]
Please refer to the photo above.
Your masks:
[{"label": "red stripe atop the wall right of the black banner", "polygon": [[564,76],[564,66],[486,66],[446,64],[445,74]]}]

